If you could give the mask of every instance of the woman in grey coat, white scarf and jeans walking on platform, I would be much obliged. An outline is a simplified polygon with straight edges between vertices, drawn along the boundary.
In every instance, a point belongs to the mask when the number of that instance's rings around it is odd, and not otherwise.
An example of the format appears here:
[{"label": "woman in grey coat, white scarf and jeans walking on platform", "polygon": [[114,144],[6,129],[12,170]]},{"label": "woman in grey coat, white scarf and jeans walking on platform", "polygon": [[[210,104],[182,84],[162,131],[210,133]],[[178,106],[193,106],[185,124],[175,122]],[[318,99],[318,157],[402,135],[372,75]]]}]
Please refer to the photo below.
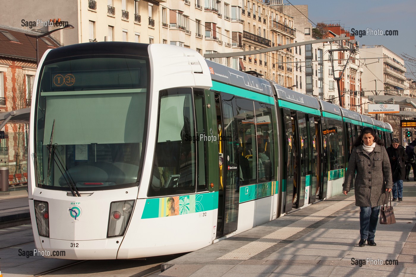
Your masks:
[{"label": "woman in grey coat, white scarf and jeans walking on platform", "polygon": [[367,244],[376,246],[374,237],[379,221],[380,206],[384,203],[386,191],[391,191],[393,180],[389,155],[384,142],[376,136],[374,129],[364,127],[354,142],[349,157],[343,193],[347,195],[355,178],[355,205],[360,207],[360,247]]}]

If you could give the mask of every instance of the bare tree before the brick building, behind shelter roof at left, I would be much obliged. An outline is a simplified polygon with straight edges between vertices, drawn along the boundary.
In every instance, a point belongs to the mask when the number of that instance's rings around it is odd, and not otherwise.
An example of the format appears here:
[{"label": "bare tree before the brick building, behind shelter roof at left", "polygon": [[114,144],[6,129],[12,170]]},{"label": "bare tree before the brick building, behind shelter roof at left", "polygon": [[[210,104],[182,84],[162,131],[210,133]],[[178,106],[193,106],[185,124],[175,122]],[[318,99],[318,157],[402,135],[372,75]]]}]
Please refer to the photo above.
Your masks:
[{"label": "bare tree before the brick building, behind shelter roof at left", "polygon": [[[8,107],[10,110],[15,111],[18,109],[24,109],[27,105],[27,88],[26,88],[26,76],[24,74],[16,74],[16,81],[12,87],[12,97],[8,98]],[[30,85],[32,87],[32,84]],[[23,147],[23,132],[25,124],[10,124],[12,130],[17,136],[17,149],[15,153],[16,169],[15,172],[21,173],[21,156]]]}]

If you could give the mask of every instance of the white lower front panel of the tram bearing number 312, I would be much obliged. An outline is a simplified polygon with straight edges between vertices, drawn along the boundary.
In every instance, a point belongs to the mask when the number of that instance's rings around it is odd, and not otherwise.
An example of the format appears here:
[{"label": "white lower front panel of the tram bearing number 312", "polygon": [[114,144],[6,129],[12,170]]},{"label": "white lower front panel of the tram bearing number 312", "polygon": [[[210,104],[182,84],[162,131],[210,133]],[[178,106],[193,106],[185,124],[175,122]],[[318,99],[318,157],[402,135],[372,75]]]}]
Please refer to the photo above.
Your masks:
[{"label": "white lower front panel of the tram bearing number 312", "polygon": [[44,257],[69,260],[107,260],[116,259],[123,238],[78,241],[54,240],[47,237],[39,237],[39,239],[41,247],[38,247],[38,251]]}]

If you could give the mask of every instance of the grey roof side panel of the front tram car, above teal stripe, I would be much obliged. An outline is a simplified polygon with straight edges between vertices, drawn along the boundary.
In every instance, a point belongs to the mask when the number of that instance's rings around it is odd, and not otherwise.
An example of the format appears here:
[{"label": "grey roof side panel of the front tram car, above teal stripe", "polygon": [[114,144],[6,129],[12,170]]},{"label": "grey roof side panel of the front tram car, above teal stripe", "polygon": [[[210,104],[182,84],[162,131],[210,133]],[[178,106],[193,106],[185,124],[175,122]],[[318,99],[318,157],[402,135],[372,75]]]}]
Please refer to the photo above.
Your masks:
[{"label": "grey roof side panel of the front tram car, above teal stripe", "polygon": [[222,64],[217,64],[209,59],[206,59],[206,63],[208,64],[208,67],[213,69],[214,73],[211,72],[211,78],[215,81],[265,94],[267,96],[273,96],[270,82],[266,79],[254,77],[253,75],[226,67]]}]

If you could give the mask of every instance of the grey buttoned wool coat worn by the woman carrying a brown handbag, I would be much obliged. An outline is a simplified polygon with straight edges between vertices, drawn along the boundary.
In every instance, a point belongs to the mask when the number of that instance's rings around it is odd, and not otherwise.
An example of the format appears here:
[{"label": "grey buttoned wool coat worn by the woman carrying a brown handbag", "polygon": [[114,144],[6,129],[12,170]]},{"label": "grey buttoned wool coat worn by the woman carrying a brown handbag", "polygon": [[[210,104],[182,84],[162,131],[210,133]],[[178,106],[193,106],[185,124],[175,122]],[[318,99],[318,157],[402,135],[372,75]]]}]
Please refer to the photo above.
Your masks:
[{"label": "grey buttoned wool coat worn by the woman carrying a brown handbag", "polygon": [[371,208],[383,205],[386,188],[393,188],[390,160],[386,148],[376,144],[371,153],[366,153],[362,145],[352,149],[342,185],[343,190],[350,190],[356,171],[355,205]]}]

